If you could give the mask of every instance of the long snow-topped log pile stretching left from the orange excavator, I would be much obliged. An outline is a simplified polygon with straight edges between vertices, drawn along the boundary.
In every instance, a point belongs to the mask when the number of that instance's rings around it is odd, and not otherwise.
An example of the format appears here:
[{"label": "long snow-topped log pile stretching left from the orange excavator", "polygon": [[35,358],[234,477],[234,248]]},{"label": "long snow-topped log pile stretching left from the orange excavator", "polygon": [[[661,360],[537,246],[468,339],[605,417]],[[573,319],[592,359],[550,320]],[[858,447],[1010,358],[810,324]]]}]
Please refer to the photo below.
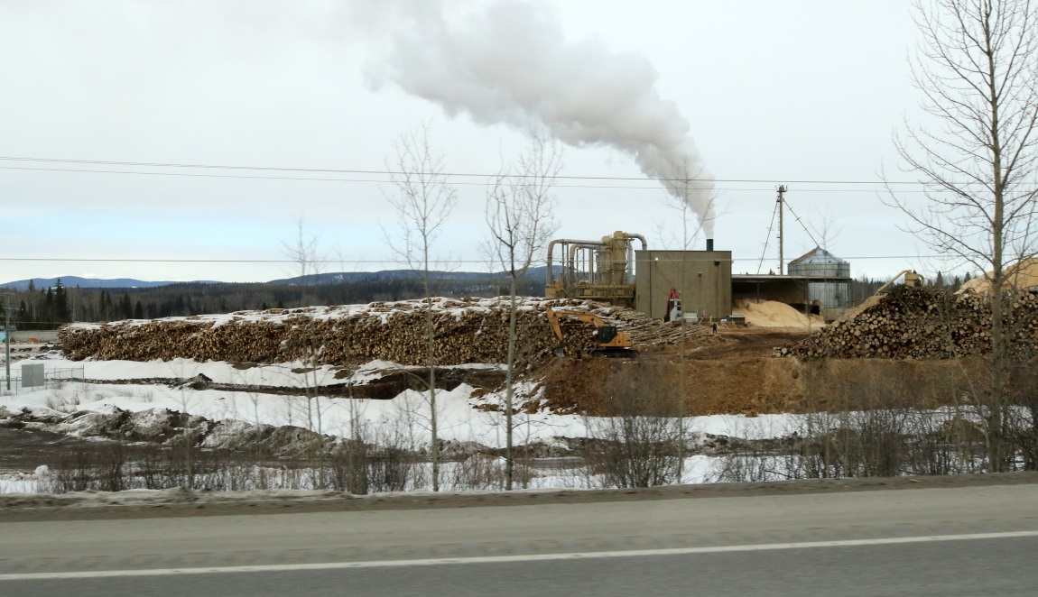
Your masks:
[{"label": "long snow-topped log pile stretching left from the orange excavator", "polygon": [[[102,324],[72,324],[59,333],[69,359],[195,361],[313,364],[384,360],[402,365],[427,364],[426,301],[361,306],[308,307],[241,311]],[[630,310],[586,301],[520,298],[517,311],[520,359],[534,362],[552,353],[557,343],[545,311],[594,313],[629,330],[636,342],[673,342],[677,329]],[[502,363],[509,337],[509,298],[434,298],[434,353],[439,365]],[[594,347],[594,325],[563,319],[571,350]]]}]

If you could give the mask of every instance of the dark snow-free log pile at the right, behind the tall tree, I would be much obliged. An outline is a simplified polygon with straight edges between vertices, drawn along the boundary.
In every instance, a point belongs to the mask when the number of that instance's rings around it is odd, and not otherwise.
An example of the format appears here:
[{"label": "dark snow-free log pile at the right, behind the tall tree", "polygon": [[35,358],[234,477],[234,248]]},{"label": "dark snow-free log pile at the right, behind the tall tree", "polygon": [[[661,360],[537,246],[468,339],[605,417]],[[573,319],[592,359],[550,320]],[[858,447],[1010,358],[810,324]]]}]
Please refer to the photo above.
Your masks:
[{"label": "dark snow-free log pile at the right, behind the tall tree", "polygon": [[[1013,356],[1033,357],[1038,352],[1038,294],[1023,291],[1003,300],[1005,330]],[[903,288],[778,353],[837,359],[952,359],[990,351],[990,297]]]}]

